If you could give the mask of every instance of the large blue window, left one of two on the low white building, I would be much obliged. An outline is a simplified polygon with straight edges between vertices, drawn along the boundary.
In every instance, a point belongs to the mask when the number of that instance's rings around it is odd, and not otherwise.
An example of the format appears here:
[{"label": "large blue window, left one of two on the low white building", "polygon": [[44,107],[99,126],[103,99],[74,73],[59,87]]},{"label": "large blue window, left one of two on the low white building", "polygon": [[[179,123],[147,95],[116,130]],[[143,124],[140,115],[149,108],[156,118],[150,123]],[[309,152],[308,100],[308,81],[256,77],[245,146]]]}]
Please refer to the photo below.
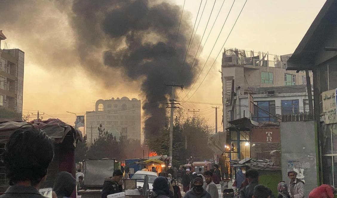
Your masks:
[{"label": "large blue window, left one of two on the low white building", "polygon": [[[254,105],[253,120],[255,122],[274,122],[275,100],[256,101]],[[269,112],[269,113],[268,113]]]}]

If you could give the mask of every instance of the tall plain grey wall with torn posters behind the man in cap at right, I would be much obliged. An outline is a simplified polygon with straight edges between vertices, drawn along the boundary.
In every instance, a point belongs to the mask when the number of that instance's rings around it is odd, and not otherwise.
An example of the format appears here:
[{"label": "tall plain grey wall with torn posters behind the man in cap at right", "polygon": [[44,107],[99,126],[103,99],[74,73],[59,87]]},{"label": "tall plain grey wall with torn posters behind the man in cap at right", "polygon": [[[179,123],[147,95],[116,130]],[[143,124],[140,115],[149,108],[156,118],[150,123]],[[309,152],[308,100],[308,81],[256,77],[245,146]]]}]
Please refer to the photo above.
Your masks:
[{"label": "tall plain grey wall with torn posters behind the man in cap at right", "polygon": [[282,178],[289,182],[288,170],[305,181],[305,196],[317,187],[315,122],[281,122]]}]

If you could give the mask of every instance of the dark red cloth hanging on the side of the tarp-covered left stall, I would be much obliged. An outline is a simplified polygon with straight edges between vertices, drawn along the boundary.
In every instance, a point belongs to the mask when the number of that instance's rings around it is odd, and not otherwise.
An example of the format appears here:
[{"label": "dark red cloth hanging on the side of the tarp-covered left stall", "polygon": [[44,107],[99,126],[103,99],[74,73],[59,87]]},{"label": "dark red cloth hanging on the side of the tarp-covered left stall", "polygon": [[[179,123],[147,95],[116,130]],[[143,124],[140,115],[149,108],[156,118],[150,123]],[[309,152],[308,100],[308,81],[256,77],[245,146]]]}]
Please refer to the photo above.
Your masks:
[{"label": "dark red cloth hanging on the side of the tarp-covered left stall", "polygon": [[[59,155],[59,172],[69,172],[75,178],[75,149],[61,148]],[[74,189],[70,197],[76,198],[76,189]]]}]

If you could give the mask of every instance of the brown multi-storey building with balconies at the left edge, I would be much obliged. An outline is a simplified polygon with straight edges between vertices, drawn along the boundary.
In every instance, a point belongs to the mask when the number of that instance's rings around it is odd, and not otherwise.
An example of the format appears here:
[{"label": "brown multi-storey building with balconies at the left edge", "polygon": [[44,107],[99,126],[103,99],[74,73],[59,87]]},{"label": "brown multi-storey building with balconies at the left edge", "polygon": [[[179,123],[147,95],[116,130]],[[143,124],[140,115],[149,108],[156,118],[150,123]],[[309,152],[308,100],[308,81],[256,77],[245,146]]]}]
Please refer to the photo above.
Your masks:
[{"label": "brown multi-storey building with balconies at the left edge", "polygon": [[[0,30],[1,40],[6,37]],[[25,53],[0,49],[0,106],[22,113]]]}]

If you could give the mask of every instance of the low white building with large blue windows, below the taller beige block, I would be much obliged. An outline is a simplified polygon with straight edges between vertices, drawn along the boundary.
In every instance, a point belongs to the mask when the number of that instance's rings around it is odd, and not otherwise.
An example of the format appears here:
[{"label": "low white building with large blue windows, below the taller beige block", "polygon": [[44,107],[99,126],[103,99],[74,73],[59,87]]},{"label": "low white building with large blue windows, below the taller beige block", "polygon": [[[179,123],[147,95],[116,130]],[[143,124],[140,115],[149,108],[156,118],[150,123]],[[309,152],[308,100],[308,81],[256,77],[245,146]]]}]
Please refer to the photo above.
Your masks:
[{"label": "low white building with large blue windows, below the taller beige block", "polygon": [[[249,95],[234,97],[234,108],[229,110],[229,120],[251,117],[256,122],[276,122],[275,116],[292,115],[309,112],[308,93],[306,85],[258,88],[254,98],[253,114],[249,112]],[[267,113],[267,112],[270,113]],[[280,120],[278,120],[280,121]]]}]

